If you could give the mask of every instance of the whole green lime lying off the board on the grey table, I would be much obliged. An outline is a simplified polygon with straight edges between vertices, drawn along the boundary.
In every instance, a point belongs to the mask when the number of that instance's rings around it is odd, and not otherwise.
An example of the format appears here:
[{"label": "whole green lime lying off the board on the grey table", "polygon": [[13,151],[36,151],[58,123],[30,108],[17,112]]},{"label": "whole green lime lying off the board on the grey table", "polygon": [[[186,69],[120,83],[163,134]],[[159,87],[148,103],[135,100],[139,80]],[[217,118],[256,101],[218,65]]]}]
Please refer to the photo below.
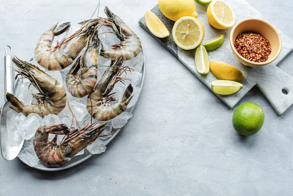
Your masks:
[{"label": "whole green lime lying off the board on the grey table", "polygon": [[234,129],[243,136],[256,134],[265,120],[261,107],[253,102],[244,102],[234,111],[232,124]]}]

